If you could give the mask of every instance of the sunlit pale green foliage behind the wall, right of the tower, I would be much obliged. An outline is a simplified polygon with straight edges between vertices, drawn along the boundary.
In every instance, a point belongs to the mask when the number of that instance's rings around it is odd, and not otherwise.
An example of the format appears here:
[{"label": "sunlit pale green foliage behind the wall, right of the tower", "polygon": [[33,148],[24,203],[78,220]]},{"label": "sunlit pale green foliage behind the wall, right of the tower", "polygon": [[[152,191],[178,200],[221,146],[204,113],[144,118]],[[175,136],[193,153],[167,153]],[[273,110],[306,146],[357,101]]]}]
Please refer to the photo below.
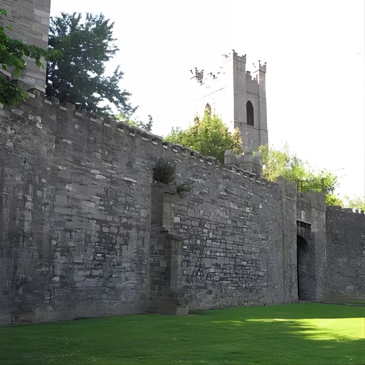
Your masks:
[{"label": "sunlit pale green foliage behind the wall, right of the tower", "polygon": [[298,190],[308,193],[314,190],[325,195],[325,201],[331,205],[341,205],[341,199],[334,194],[338,186],[338,176],[327,169],[315,171],[307,161],[301,160],[291,153],[287,144],[275,150],[268,144],[259,148],[263,157],[263,177],[269,181],[276,181],[279,176],[288,181],[296,181]]}]

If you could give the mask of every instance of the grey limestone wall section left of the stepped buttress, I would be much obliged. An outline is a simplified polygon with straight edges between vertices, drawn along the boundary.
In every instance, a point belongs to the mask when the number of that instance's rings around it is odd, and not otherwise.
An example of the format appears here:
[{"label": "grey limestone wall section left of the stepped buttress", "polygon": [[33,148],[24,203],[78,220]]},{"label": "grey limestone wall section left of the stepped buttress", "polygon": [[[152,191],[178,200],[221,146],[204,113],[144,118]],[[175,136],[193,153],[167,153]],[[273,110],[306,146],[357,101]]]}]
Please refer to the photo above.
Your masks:
[{"label": "grey limestone wall section left of the stepped buttress", "polygon": [[143,312],[144,142],[38,99],[0,120],[0,321]]}]

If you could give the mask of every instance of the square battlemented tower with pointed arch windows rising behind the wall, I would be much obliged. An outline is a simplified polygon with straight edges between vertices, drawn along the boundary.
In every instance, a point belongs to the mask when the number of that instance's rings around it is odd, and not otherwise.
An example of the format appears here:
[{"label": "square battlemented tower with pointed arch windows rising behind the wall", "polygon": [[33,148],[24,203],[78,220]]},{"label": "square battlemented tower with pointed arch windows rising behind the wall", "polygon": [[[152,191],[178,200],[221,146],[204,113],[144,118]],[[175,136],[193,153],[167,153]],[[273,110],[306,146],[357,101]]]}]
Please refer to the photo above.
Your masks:
[{"label": "square battlemented tower with pointed arch windows rising behind the wall", "polygon": [[[196,110],[201,113],[208,105],[233,131],[241,131],[244,151],[258,151],[268,143],[265,75],[266,63],[258,62],[253,72],[246,71],[246,55],[234,50],[223,54],[221,65],[212,71],[196,70],[194,83]],[[194,74],[193,74],[194,75]]]}]

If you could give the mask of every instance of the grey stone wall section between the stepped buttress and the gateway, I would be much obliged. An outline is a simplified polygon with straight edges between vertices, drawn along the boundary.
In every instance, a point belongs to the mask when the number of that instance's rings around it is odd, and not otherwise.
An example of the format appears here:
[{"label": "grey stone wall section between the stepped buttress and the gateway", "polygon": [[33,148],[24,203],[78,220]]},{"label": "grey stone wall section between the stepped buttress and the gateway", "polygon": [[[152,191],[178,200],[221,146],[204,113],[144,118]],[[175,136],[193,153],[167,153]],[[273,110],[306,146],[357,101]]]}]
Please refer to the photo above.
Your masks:
[{"label": "grey stone wall section between the stepped buttress and the gateway", "polygon": [[[282,303],[283,232],[276,185],[187,166],[194,191],[171,204],[190,308]],[[295,300],[290,298],[290,300]]]}]

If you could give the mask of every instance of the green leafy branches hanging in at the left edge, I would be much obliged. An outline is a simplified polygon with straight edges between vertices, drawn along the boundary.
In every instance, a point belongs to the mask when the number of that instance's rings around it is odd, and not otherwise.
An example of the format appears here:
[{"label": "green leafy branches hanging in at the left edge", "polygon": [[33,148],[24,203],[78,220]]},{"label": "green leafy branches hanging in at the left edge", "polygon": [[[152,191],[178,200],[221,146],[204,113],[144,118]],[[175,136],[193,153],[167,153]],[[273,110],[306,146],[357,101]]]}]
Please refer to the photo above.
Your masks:
[{"label": "green leafy branches hanging in at the left edge", "polygon": [[[5,9],[0,8],[0,16],[6,17]],[[11,29],[11,26],[5,26]],[[20,70],[24,68],[24,57],[30,57],[35,60],[35,64],[44,67],[41,57],[51,57],[52,53],[40,47],[27,45],[22,41],[10,38],[4,29],[0,26],[0,64],[3,69],[11,69],[14,79],[20,74]],[[17,106],[28,98],[28,93],[10,80],[0,78],[0,102],[5,106]]]}]

